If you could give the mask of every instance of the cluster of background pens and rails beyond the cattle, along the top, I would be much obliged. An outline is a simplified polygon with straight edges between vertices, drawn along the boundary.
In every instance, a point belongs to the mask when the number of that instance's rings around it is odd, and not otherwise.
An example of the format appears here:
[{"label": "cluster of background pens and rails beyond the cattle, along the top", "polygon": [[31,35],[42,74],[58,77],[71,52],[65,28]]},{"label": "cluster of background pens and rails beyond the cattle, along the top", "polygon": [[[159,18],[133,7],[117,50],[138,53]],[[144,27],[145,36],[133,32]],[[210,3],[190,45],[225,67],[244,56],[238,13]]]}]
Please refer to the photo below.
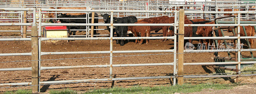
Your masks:
[{"label": "cluster of background pens and rails beyond the cattle, along the top", "polygon": [[[193,11],[225,11],[226,9],[232,9],[232,11],[235,10],[256,10],[256,8],[251,8],[251,6],[255,6],[256,3],[249,1],[213,1],[213,2],[169,2],[169,1],[115,1],[115,0],[100,0],[100,1],[54,1],[54,0],[0,0],[0,7],[4,8],[25,8],[25,7],[38,7],[38,8],[58,8],[58,7],[86,7],[94,8],[95,10],[160,10],[161,8],[163,10],[180,10],[183,8],[184,10],[193,10]],[[215,10],[218,9],[218,10]],[[42,15],[45,15],[43,22],[49,23],[49,20],[51,18],[47,17],[47,13],[51,12],[44,12]],[[61,13],[61,12],[55,12],[55,14]],[[2,11],[0,12],[0,21],[19,21],[19,23],[23,22],[23,16],[24,11]],[[104,13],[98,13],[104,14]],[[31,18],[33,15],[31,11],[27,11],[27,20],[30,23],[33,18]],[[186,13],[188,15],[188,18],[190,19],[209,19],[212,21],[212,19],[217,17],[223,17],[224,14],[218,14],[218,15],[212,15],[212,14],[202,14],[202,13]],[[8,18],[6,18],[8,16]],[[126,12],[117,12],[114,13],[115,17],[127,17],[127,16],[136,16],[137,18],[149,18],[149,17],[159,17],[159,16],[174,16],[174,13],[126,13]],[[246,14],[241,15],[241,19],[244,20],[254,20],[256,18],[256,15],[254,14]],[[55,16],[55,18],[57,17]],[[99,19],[102,19],[102,17],[99,17]],[[90,29],[86,31],[86,34],[89,34]],[[96,29],[101,30],[101,29]],[[20,30],[4,30],[4,31],[15,31],[20,32],[21,36],[23,35],[23,26],[21,26]],[[29,30],[30,31],[30,30]],[[26,34],[26,33],[25,33]],[[88,37],[89,35],[86,35],[85,37]],[[94,36],[104,36],[104,35],[94,35]],[[106,36],[106,35],[105,35]],[[11,37],[11,36],[7,36]],[[84,36],[80,36],[84,37]]]}]

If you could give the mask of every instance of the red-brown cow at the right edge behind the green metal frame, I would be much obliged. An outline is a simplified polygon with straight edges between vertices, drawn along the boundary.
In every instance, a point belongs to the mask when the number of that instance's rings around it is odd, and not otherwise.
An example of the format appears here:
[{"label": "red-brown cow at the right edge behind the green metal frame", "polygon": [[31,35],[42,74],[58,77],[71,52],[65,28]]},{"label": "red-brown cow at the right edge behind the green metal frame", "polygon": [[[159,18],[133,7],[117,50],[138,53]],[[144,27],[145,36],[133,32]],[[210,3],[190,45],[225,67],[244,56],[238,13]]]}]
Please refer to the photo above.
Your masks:
[{"label": "red-brown cow at the right edge behind the green metal frame", "polygon": [[[254,36],[255,30],[254,30],[253,26],[244,26],[244,28],[245,28],[247,36]],[[232,32],[232,29],[228,29],[228,32]],[[243,26],[240,26],[240,36],[241,37],[245,36]],[[253,39],[249,38],[248,40],[249,40],[249,44],[250,44],[251,48],[253,49],[254,48],[253,47]]]}]

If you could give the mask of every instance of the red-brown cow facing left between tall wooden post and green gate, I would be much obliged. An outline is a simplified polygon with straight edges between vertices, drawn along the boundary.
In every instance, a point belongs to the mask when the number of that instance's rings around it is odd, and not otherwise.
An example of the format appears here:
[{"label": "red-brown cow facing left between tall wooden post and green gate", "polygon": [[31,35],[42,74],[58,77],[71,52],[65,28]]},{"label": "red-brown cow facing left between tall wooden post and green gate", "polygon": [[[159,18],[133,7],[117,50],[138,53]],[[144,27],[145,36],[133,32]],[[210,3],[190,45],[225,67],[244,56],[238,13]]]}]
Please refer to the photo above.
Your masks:
[{"label": "red-brown cow facing left between tall wooden post and green gate", "polygon": [[[214,22],[205,23],[205,24],[214,24]],[[222,33],[220,30],[218,30],[218,33],[219,33],[219,37],[222,37]],[[198,26],[196,35],[202,35],[203,37],[212,37],[213,36],[212,26]],[[203,41],[205,42],[205,49],[206,47],[208,47],[208,43],[212,44],[212,39],[203,39]],[[221,40],[218,40],[218,45],[220,45],[220,41]],[[202,41],[201,41],[201,44],[203,44]]]}]

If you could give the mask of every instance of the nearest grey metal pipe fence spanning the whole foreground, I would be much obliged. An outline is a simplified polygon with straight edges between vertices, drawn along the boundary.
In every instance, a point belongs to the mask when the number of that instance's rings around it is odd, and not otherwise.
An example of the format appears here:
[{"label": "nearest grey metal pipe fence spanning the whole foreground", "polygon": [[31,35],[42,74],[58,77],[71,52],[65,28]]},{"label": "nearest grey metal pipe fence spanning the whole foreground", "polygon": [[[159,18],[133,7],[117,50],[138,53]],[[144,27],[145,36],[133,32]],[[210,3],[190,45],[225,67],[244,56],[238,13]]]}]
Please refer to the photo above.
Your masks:
[{"label": "nearest grey metal pipe fence spanning the whole foreground", "polygon": [[[173,78],[173,84],[176,84],[176,77],[177,71],[176,69],[176,55],[178,54],[176,52],[176,42],[174,42],[174,49],[171,50],[113,50],[113,40],[114,39],[174,39],[174,41],[177,41],[177,35],[174,35],[173,37],[113,37],[113,26],[174,26],[174,33],[177,33],[177,27],[178,27],[178,20],[177,20],[177,10],[72,10],[72,9],[37,9],[38,11],[38,24],[36,24],[36,8],[27,8],[27,9],[20,9],[20,8],[4,8],[4,10],[15,10],[15,11],[33,11],[33,23],[0,23],[0,25],[27,25],[27,26],[38,26],[38,36],[41,36],[41,27],[42,26],[48,26],[48,25],[67,25],[67,26],[110,26],[110,37],[68,37],[68,38],[44,38],[39,37],[38,38],[38,50],[39,50],[39,70],[50,70],[50,69],[69,69],[69,68],[96,68],[96,67],[109,67],[109,78],[106,79],[84,79],[84,80],[63,80],[63,81],[45,81],[40,82],[40,84],[56,84],[56,83],[83,83],[88,81],[115,81],[115,80],[130,80],[130,79],[155,79],[155,78]],[[42,23],[42,11],[66,11],[66,12],[110,12],[111,13],[111,23],[110,24],[59,24],[59,23]],[[175,17],[175,21],[173,24],[113,24],[113,16],[115,12],[137,12],[137,13],[173,13]],[[237,37],[184,37],[184,39],[238,39],[238,44],[240,44],[241,38],[256,38],[254,36],[252,37],[240,37],[240,26],[256,26],[256,24],[241,24],[240,23],[240,14],[255,14],[255,11],[185,11],[186,14],[224,14],[224,13],[235,13],[238,14],[238,23],[237,24],[185,24],[184,26],[238,26],[238,36]],[[110,50],[108,51],[83,51],[83,52],[42,52],[41,51],[41,42],[46,40],[110,40]],[[0,38],[0,41],[31,41],[31,38]],[[256,49],[252,49],[256,50]],[[237,48],[234,50],[184,50],[184,52],[220,52],[220,51],[238,51],[238,54],[240,54],[241,51],[249,51],[244,50],[241,48]],[[113,53],[147,53],[147,52],[170,52],[174,55],[173,61],[171,63],[154,63],[154,64],[113,64]],[[109,54],[109,64],[106,65],[85,65],[85,66],[56,66],[56,67],[43,67],[41,66],[41,56],[43,55],[62,55],[62,54]],[[0,56],[30,56],[32,53],[2,53]],[[197,77],[242,77],[242,76],[252,76],[256,74],[248,74],[248,75],[241,75],[241,66],[240,64],[252,64],[255,62],[241,62],[240,55],[238,55],[238,62],[221,62],[221,63],[184,63],[184,65],[209,65],[209,64],[238,64],[238,73],[239,75],[214,75],[214,76],[184,76],[184,78],[197,78]],[[127,67],[127,66],[156,66],[156,65],[173,65],[173,75],[174,76],[161,76],[161,77],[129,77],[129,78],[113,78],[112,77],[112,68],[113,67]],[[6,69],[0,69],[0,71],[14,71],[14,70],[32,70],[31,68],[6,68]],[[39,77],[40,77],[40,71],[39,71]],[[7,83],[7,84],[0,84],[0,86],[7,86],[7,85],[31,85],[30,82],[28,83]]]}]

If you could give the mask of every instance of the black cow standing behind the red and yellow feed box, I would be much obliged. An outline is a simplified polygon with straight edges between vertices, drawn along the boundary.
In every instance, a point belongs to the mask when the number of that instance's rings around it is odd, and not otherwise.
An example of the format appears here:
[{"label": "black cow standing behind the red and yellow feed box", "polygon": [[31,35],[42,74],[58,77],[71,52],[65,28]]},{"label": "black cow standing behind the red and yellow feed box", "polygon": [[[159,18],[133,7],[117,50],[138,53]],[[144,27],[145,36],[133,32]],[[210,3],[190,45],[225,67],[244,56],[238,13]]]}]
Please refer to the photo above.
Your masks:
[{"label": "black cow standing behind the red and yellow feed box", "polygon": [[[89,13],[89,17],[92,17],[92,13]],[[94,17],[99,17],[97,13],[94,14]],[[58,14],[57,18],[86,18],[86,14],[83,15],[66,15],[66,14]],[[86,23],[87,19],[59,19],[61,23]],[[94,23],[98,23],[98,18],[94,18]],[[89,23],[92,23],[92,18],[89,19]],[[98,27],[98,26],[97,26]],[[84,30],[86,29],[86,26],[67,26],[69,30],[78,29],[78,30]],[[90,26],[91,28],[91,26]],[[94,29],[96,29],[96,26],[94,26]],[[93,30],[93,34],[96,35],[97,30]],[[72,31],[72,35],[76,35],[76,31]],[[69,35],[71,35],[72,32],[69,32]]]}]

